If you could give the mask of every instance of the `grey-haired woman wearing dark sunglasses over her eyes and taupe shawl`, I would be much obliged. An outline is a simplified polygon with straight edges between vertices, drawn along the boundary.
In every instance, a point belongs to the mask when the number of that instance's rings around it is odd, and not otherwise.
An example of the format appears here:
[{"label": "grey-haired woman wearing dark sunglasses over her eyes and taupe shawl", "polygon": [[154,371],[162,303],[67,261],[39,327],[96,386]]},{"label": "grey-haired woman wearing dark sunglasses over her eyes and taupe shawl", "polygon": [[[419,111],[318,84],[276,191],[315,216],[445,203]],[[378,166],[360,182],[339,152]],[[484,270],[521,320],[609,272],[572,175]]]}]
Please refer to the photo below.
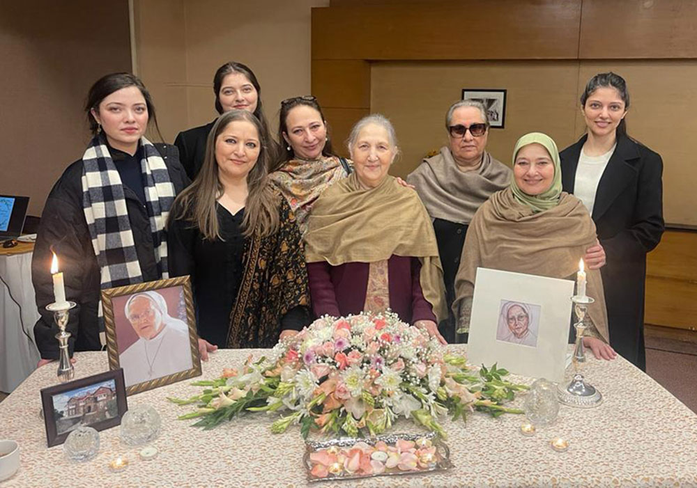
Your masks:
[{"label": "grey-haired woman wearing dark sunglasses over her eyes and taupe shawl", "polygon": [[[454,280],[467,228],[477,209],[510,182],[511,170],[487,152],[489,120],[481,102],[461,100],[445,116],[448,145],[406,178],[413,184],[433,219],[443,265],[448,309],[454,300]],[[450,313],[441,333],[454,340]]]}]

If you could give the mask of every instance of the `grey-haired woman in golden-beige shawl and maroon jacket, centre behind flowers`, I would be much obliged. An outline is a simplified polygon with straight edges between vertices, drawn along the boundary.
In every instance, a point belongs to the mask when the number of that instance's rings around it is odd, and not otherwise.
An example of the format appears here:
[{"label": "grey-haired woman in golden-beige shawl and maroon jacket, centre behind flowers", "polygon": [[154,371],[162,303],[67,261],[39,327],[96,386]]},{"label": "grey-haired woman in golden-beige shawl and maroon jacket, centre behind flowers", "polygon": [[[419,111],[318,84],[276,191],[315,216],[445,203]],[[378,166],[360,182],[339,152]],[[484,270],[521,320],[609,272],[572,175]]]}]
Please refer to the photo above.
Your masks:
[{"label": "grey-haired woman in golden-beige shawl and maroon jacket, centre behind flowers", "polygon": [[312,209],[305,258],[317,316],[380,313],[426,329],[445,343],[443,271],[426,209],[412,189],[388,175],[395,129],[381,115],[353,127],[355,172],[327,189]]}]

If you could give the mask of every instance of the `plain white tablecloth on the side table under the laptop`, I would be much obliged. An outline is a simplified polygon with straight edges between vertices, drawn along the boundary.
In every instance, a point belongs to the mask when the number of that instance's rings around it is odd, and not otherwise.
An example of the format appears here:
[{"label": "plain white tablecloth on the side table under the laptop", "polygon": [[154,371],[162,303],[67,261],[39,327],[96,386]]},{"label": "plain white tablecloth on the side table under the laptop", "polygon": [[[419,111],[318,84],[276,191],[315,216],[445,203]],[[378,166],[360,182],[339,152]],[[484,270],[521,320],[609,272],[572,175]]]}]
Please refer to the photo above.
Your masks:
[{"label": "plain white tablecloth on the side table under the laptop", "polygon": [[0,391],[9,393],[31,375],[39,360],[31,253],[0,255],[0,277]]}]

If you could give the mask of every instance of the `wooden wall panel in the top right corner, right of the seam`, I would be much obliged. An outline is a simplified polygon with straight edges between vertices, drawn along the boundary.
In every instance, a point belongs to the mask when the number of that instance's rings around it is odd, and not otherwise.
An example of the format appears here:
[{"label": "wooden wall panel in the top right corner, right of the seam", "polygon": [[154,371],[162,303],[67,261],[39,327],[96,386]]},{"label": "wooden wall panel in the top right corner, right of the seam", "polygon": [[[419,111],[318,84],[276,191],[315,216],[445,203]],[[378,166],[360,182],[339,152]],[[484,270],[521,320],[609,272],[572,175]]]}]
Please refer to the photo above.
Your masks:
[{"label": "wooden wall panel in the top right corner, right of the seam", "polygon": [[582,59],[697,58],[697,1],[583,0]]}]

